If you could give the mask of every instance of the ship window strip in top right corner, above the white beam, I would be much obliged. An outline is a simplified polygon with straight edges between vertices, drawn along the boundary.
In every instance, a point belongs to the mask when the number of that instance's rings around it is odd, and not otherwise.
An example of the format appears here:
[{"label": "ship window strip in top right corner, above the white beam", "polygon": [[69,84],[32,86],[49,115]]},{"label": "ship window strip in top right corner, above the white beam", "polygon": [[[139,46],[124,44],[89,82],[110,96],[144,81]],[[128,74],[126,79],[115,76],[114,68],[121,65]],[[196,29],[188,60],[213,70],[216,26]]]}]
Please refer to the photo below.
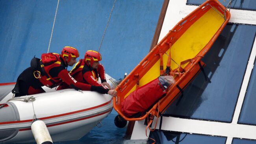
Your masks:
[{"label": "ship window strip in top right corner, above the white beam", "polygon": [[[219,0],[221,4],[225,7],[228,5],[230,0]],[[201,5],[205,0],[187,0],[187,5]],[[231,8],[233,9],[247,9],[247,10],[256,10],[256,0],[233,0],[231,3]]]}]

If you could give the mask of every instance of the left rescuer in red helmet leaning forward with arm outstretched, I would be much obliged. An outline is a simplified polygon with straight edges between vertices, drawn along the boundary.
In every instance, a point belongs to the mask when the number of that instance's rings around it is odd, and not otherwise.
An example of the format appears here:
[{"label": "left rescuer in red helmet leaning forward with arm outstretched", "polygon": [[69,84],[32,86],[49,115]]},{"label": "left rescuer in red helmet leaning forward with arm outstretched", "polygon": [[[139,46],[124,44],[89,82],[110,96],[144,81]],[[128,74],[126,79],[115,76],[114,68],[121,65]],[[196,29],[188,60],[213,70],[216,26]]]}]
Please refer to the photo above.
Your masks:
[{"label": "left rescuer in red helmet leaning forward with arm outstretched", "polygon": [[[55,57],[56,61],[49,65],[44,65],[43,60]],[[77,82],[67,71],[68,66],[76,63],[79,52],[74,47],[64,47],[61,54],[48,53],[42,54],[39,61],[39,68],[29,67],[18,77],[15,88],[12,90],[15,97],[22,95],[39,94],[45,92],[41,86],[53,88],[66,83],[76,90],[91,90],[102,94],[108,94],[108,90],[101,86],[92,86]]]}]

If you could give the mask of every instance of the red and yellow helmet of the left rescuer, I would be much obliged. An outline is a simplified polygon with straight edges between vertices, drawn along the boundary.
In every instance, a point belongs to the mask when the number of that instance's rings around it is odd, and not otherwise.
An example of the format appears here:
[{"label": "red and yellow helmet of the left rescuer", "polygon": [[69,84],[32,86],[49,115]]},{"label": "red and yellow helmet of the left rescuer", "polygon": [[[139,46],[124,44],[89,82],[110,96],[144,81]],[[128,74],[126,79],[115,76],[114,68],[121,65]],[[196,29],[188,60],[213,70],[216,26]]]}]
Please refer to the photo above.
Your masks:
[{"label": "red and yellow helmet of the left rescuer", "polygon": [[78,58],[79,57],[79,52],[74,47],[66,46],[61,51],[61,58],[63,58],[63,60],[65,59],[64,58],[65,56],[68,57],[68,61],[67,61],[67,63],[68,63],[71,58]]}]

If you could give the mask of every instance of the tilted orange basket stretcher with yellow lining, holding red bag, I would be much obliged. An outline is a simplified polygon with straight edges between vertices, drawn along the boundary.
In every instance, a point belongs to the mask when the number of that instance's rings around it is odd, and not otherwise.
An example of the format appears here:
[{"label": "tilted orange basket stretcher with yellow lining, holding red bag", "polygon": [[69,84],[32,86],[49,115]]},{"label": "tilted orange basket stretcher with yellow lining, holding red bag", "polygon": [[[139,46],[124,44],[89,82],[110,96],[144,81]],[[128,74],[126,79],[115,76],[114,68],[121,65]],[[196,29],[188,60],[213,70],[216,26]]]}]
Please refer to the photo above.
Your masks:
[{"label": "tilted orange basket stretcher with yellow lining, holding red bag", "polygon": [[[205,14],[208,15],[204,16]],[[211,18],[211,16],[213,16],[213,18]],[[215,24],[214,21],[211,21],[215,17],[217,17],[216,23],[219,23],[218,25]],[[193,78],[195,78],[195,76],[197,76],[197,74],[200,72],[200,67],[198,63],[200,62],[201,65],[204,66],[204,63],[201,61],[201,58],[211,48],[211,46],[213,45],[213,43],[215,42],[215,40],[217,39],[217,37],[224,29],[225,25],[228,23],[229,20],[229,11],[227,11],[226,8],[217,0],[207,0],[202,5],[197,7],[197,9],[195,9],[192,13],[188,14],[185,18],[178,22],[173,27],[173,29],[171,29],[168,32],[168,34],[117,86],[117,88],[115,89],[117,90],[117,97],[113,97],[113,107],[115,108],[115,110],[127,121],[140,121],[147,118],[148,115],[150,114],[159,117],[159,115],[165,112],[165,110],[170,106],[170,104],[173,103],[173,101],[180,95],[180,90],[177,88],[177,85],[180,86],[180,88],[182,89],[185,88],[193,80]],[[204,25],[209,26],[207,26],[206,29],[201,30],[200,27],[203,27]],[[195,42],[195,40],[192,37],[196,37],[197,32],[200,32],[200,34],[198,34],[199,36],[201,36],[202,34],[206,34],[206,36],[202,36],[202,39],[204,39],[207,36],[209,37],[210,33],[212,33],[208,39],[204,40],[205,43],[203,46],[201,46],[202,48],[200,48],[199,52],[197,52],[195,56],[191,54],[192,57],[189,55],[187,56],[187,58],[183,59],[182,54],[175,54],[175,50],[178,50],[179,47],[177,45],[184,44],[184,42],[178,40],[182,38],[186,40],[186,43],[193,43]],[[190,38],[191,41],[189,41]],[[184,44],[184,47],[194,47],[194,45],[190,46],[186,45],[186,43]],[[193,50],[194,48],[191,49]],[[169,57],[169,53],[171,54],[170,57],[172,58],[171,69],[172,71],[175,71],[174,77],[176,83],[174,83],[174,85],[172,86],[169,86],[169,88],[167,89],[167,94],[164,97],[162,97],[157,103],[155,103],[154,106],[152,106],[152,108],[145,113],[145,115],[142,115],[141,117],[126,117],[126,115],[124,115],[121,111],[122,101],[128,96],[128,94],[130,94],[136,88],[143,86],[149,81],[160,76],[160,68],[158,68],[159,72],[157,72],[154,71],[156,69],[154,69],[154,67],[159,67],[159,65],[160,67],[163,67],[163,65],[165,66],[167,63],[166,59],[167,57]],[[186,53],[187,52],[184,51],[184,55],[186,55]],[[162,63],[164,64],[162,65]],[[180,63],[180,65],[178,65],[177,63]],[[184,71],[180,71],[180,68]],[[150,73],[150,70],[153,70],[153,72]],[[156,75],[154,73],[158,74]]]}]

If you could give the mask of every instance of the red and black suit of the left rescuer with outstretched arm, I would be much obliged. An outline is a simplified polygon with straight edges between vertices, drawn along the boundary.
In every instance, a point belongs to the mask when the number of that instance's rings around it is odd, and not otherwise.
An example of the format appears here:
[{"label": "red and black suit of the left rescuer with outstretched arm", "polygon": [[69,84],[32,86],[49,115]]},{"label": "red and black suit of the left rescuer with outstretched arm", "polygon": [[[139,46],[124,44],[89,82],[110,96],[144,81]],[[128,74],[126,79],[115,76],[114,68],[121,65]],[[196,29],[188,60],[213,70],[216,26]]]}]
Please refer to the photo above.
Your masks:
[{"label": "red and black suit of the left rescuer with outstretched arm", "polygon": [[102,94],[108,93],[108,91],[106,92],[106,90],[101,86],[91,86],[77,82],[72,76],[70,76],[66,69],[67,64],[65,64],[59,54],[56,54],[56,56],[58,57],[58,60],[55,63],[47,66],[42,66],[42,63],[40,64],[41,69],[38,71],[40,71],[41,74],[37,73],[39,76],[35,76],[35,69],[32,67],[24,70],[18,77],[15,88],[13,89],[15,97],[39,94],[45,92],[41,86],[45,85],[52,88],[62,82],[65,82],[67,85],[75,89],[97,91]]}]

